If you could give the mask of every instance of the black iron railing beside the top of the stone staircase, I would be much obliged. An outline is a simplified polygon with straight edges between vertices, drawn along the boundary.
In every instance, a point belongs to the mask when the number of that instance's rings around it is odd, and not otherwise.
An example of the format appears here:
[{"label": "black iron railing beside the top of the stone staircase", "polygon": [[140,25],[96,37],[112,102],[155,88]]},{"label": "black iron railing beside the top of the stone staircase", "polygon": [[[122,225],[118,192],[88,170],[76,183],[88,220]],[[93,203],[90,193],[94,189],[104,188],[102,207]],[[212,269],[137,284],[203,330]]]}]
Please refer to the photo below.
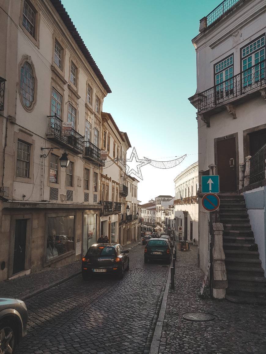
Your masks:
[{"label": "black iron railing beside the top of the stone staircase", "polygon": [[266,167],[266,144],[259,149],[250,159],[250,179],[249,183],[255,183],[265,179]]}]

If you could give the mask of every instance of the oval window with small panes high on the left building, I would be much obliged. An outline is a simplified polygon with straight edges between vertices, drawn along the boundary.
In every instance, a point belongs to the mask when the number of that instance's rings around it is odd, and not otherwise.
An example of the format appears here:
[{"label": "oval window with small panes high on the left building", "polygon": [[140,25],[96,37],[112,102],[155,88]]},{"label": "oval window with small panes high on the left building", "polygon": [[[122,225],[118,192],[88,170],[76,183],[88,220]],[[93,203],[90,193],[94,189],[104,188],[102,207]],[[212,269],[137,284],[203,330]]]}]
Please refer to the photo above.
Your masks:
[{"label": "oval window with small panes high on the left building", "polygon": [[30,107],[34,99],[34,77],[31,65],[25,62],[20,69],[20,94],[25,107]]}]

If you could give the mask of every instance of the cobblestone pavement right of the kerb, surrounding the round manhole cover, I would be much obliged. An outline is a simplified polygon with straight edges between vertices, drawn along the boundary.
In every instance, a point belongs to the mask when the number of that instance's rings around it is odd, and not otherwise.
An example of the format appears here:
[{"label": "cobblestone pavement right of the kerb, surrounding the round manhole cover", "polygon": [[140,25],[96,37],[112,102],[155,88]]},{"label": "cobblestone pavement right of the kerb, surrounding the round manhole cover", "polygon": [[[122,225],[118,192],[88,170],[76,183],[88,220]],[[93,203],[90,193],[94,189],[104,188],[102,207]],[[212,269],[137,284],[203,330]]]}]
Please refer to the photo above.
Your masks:
[{"label": "cobblestone pavement right of the kerb, surrounding the round manhole cover", "polygon": [[[204,276],[196,267],[197,249],[191,249],[177,253],[175,290],[170,286],[159,353],[266,353],[266,307],[211,299],[208,288],[200,297]],[[187,312],[211,313],[215,320],[188,321],[182,318]]]}]

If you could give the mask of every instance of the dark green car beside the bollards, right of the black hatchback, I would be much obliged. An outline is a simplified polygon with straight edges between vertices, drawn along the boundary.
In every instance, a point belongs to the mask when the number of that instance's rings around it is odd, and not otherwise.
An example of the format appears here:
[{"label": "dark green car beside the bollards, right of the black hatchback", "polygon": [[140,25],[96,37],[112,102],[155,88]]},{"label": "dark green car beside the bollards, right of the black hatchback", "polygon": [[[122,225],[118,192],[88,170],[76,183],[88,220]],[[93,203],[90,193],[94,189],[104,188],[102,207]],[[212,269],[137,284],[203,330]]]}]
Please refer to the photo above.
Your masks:
[{"label": "dark green car beside the bollards, right of the black hatchback", "polygon": [[172,253],[172,246],[167,239],[150,239],[144,249],[144,263],[150,259],[156,259],[170,264]]}]

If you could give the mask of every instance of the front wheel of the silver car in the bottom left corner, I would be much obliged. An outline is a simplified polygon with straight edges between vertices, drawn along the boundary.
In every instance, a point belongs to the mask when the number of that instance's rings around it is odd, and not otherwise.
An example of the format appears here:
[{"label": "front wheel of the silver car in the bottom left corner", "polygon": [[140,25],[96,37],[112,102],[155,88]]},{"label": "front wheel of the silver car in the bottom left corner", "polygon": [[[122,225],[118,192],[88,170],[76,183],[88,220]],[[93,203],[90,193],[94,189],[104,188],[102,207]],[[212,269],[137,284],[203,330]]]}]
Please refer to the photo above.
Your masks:
[{"label": "front wheel of the silver car in the bottom left corner", "polygon": [[17,342],[16,333],[16,326],[11,320],[0,321],[0,353],[13,353]]}]

